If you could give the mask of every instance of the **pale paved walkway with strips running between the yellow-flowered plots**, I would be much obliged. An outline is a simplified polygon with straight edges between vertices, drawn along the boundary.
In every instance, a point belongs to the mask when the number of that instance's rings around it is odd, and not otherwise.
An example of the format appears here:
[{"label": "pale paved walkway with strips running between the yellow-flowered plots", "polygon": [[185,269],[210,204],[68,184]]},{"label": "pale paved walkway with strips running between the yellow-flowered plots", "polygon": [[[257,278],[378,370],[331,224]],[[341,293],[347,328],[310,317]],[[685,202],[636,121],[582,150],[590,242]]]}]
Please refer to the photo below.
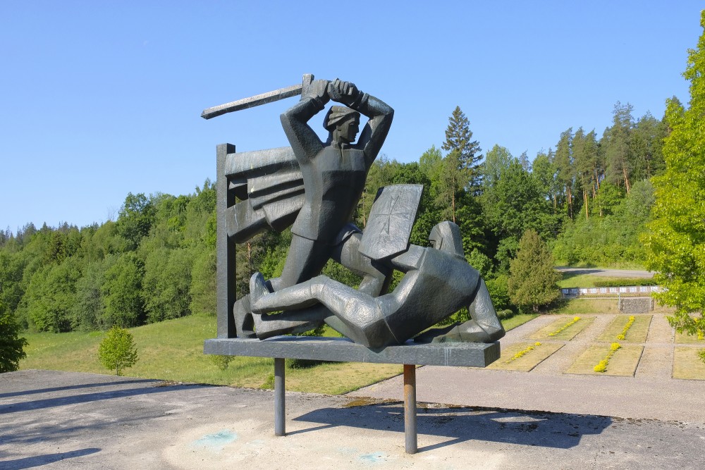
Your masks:
[{"label": "pale paved walkway with strips running between the yellow-flowered plots", "polygon": [[[634,377],[565,374],[563,371],[615,317],[595,321],[531,372],[424,366],[417,370],[417,400],[476,407],[594,414],[625,419],[705,423],[705,381],[671,378],[673,328],[666,316],[653,314],[644,353]],[[539,316],[508,332],[507,347],[526,341],[556,320]],[[401,400],[403,379],[391,378],[349,395]]]}]

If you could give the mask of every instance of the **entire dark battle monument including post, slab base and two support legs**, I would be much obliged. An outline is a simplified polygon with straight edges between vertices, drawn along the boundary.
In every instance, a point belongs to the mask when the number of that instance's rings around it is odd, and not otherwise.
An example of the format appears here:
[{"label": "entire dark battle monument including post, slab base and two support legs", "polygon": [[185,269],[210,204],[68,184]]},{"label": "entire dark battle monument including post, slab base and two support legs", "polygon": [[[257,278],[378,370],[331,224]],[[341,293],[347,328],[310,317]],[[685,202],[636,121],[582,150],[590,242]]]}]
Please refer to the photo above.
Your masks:
[{"label": "entire dark battle monument including post, slab base and two support legs", "polygon": [[[364,233],[350,223],[391,125],[393,110],[383,101],[351,82],[304,75],[301,85],[215,106],[202,117],[298,92],[298,104],[281,115],[291,147],[237,153],[231,144],[218,146],[218,338],[206,340],[204,352],[274,357],[276,435],[286,433],[284,357],[404,364],[406,450],[414,453],[413,364],[486,366],[498,359],[504,330],[484,281],[465,261],[457,225],[436,225],[431,247],[410,245],[421,185],[381,188]],[[329,137],[321,142],[309,120],[329,101],[343,106],[326,113]],[[356,141],[361,115],[368,120]],[[238,298],[235,245],[288,227],[282,275],[255,273],[251,294]],[[329,259],[362,276],[357,289],[320,276]],[[404,276],[387,294],[395,270]],[[470,320],[427,330],[465,307]],[[323,323],[349,340],[281,336]]]}]

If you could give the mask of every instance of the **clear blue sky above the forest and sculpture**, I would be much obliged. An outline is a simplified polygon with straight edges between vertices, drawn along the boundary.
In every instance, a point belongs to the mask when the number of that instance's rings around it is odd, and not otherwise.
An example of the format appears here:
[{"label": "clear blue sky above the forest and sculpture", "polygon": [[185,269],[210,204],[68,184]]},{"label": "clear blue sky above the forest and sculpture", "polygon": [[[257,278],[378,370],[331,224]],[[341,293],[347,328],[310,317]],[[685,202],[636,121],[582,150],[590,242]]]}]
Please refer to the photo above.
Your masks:
[{"label": "clear blue sky above the forest and sculpture", "polygon": [[[460,106],[483,151],[529,158],[560,132],[598,135],[617,101],[663,116],[697,43],[702,1],[13,1],[0,3],[0,228],[117,216],[128,192],[192,193],[216,144],[287,144],[295,98],[349,80],[395,109],[382,153],[440,147]],[[322,116],[313,120],[320,126]],[[322,128],[321,128],[322,131]]]}]

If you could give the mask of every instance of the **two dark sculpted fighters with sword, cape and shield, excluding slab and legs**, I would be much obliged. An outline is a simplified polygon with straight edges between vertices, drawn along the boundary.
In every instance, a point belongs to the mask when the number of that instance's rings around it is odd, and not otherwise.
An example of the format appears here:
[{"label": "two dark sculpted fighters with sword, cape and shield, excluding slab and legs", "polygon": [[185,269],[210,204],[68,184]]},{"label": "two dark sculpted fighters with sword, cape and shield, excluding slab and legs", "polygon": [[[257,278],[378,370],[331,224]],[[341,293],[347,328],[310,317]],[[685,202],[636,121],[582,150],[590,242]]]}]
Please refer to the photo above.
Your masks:
[{"label": "two dark sculpted fighters with sword, cape and shield, excluding slab and legs", "polygon": [[[269,228],[291,226],[293,233],[281,277],[265,280],[256,273],[250,295],[231,304],[238,337],[264,339],[325,322],[357,343],[379,348],[401,344],[467,307],[469,321],[428,330],[417,341],[501,338],[504,330],[484,281],[462,256],[458,226],[436,225],[429,235],[431,247],[409,244],[422,186],[380,190],[364,233],[350,223],[391,126],[390,106],[351,82],[305,75],[300,86],[217,106],[202,116],[293,96],[298,90],[298,104],[281,115],[291,147],[228,154],[235,158],[228,159],[224,170],[228,192],[240,199],[219,212],[226,218],[230,242],[244,242]],[[321,142],[309,120],[329,101],[344,106],[326,113],[329,137]],[[356,141],[361,114],[369,120]],[[329,259],[362,276],[357,290],[319,276]],[[405,276],[386,294],[395,269]]]}]

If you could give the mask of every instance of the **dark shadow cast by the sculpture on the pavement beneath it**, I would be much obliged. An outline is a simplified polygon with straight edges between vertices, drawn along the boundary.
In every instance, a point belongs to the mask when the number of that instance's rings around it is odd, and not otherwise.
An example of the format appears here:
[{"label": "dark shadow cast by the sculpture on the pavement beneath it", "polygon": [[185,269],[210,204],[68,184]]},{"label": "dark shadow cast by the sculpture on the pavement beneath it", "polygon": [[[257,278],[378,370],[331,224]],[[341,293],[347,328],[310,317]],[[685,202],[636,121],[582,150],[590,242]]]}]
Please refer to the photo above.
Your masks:
[{"label": "dark shadow cast by the sculpture on the pavement beneath it", "polygon": [[[608,416],[589,414],[436,406],[419,404],[417,433],[443,436],[450,440],[420,447],[419,452],[467,440],[569,449],[577,446],[583,435],[599,434],[613,422]],[[359,407],[324,408],[298,416],[294,421],[327,425],[310,431],[348,426],[403,433],[404,404],[385,402]]]}]

